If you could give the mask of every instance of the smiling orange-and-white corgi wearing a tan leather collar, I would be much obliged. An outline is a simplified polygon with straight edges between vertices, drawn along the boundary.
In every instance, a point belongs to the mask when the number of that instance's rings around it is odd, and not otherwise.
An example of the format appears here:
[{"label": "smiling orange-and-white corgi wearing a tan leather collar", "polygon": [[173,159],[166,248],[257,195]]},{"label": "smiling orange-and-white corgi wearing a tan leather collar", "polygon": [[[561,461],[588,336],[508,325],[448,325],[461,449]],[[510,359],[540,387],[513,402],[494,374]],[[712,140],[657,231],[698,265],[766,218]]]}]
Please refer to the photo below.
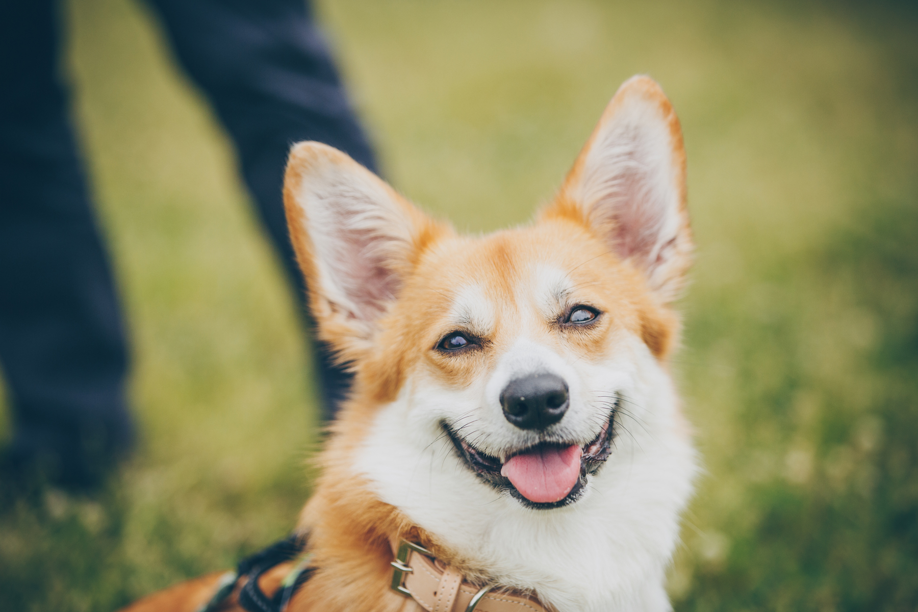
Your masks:
[{"label": "smiling orange-and-white corgi wearing a tan leather collar", "polygon": [[[290,235],[319,337],[354,382],[298,520],[308,580],[286,610],[671,609],[698,472],[668,364],[693,248],[685,163],[646,76],[621,85],[532,223],[483,237],[339,150],[293,147]],[[249,582],[270,598],[296,564]],[[258,609],[245,576],[207,604],[218,579],[129,609]]]}]

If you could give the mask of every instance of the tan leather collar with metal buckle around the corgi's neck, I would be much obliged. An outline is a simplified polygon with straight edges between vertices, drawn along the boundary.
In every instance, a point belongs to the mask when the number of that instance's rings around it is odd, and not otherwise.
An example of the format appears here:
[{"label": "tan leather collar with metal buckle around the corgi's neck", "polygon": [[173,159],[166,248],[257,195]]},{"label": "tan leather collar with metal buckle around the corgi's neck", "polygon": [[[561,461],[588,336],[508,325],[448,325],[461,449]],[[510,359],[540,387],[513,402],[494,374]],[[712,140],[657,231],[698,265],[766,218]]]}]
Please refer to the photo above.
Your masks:
[{"label": "tan leather collar with metal buckle around the corgi's neck", "polygon": [[497,585],[481,588],[466,582],[458,570],[408,540],[389,541],[396,555],[392,589],[427,612],[550,612],[532,597],[511,595]]}]

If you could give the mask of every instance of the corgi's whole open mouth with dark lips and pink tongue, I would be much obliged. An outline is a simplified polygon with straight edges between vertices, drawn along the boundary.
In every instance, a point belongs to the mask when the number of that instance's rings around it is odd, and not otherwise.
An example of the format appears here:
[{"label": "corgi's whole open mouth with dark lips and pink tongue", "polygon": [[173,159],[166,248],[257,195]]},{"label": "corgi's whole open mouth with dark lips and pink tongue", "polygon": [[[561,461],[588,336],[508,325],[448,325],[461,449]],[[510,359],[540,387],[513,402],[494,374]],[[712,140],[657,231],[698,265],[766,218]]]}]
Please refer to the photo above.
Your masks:
[{"label": "corgi's whole open mouth with dark lips and pink tongue", "polygon": [[610,455],[615,410],[596,438],[587,444],[540,442],[509,455],[504,462],[477,450],[443,424],[465,464],[498,490],[508,491],[524,506],[538,509],[567,506],[577,501],[587,484]]}]

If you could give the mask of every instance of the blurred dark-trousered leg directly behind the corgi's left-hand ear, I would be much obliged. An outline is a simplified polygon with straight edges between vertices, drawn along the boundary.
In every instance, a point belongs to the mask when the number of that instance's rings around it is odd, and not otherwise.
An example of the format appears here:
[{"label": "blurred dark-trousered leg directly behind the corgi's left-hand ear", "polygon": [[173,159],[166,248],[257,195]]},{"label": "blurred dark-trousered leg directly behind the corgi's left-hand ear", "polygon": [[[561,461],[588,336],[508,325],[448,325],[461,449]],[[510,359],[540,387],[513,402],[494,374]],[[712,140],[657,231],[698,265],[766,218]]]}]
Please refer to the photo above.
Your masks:
[{"label": "blurred dark-trousered leg directly behind the corgi's left-hand ear", "polygon": [[[236,144],[242,176],[287,276],[305,297],[287,236],[281,187],[290,145],[319,140],[376,171],[326,43],[305,0],[149,0],[179,60],[207,94]],[[301,302],[301,304],[303,304]],[[306,308],[304,306],[304,313]],[[311,327],[311,323],[307,325]],[[350,387],[316,343],[323,416]]]}]

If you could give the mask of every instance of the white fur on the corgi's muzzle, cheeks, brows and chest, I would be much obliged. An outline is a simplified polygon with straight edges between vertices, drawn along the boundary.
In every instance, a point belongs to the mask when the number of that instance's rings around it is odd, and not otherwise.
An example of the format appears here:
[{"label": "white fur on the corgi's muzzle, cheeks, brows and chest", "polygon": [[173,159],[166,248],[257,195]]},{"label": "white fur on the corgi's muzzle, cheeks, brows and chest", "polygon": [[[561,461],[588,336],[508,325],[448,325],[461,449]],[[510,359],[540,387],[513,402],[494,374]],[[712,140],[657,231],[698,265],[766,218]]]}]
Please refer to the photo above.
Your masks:
[{"label": "white fur on the corgi's muzzle, cheeks, brows and chest", "polygon": [[[376,415],[354,469],[386,503],[473,560],[500,584],[532,590],[560,612],[669,609],[663,578],[688,500],[694,453],[678,432],[668,374],[641,339],[622,332],[599,359],[562,354],[532,339],[544,307],[565,295],[563,273],[533,270],[521,284],[516,341],[497,366],[460,388],[423,368]],[[558,291],[558,289],[562,291]],[[480,287],[458,292],[453,312],[493,325]],[[523,297],[523,296],[518,296]],[[488,313],[491,313],[489,315]],[[481,451],[502,455],[538,441],[504,418],[498,395],[513,378],[551,372],[568,384],[571,405],[557,435],[583,443],[609,417],[610,395],[625,400],[609,460],[588,476],[584,495],[562,508],[534,510],[472,473],[443,435],[447,422]]]}]

